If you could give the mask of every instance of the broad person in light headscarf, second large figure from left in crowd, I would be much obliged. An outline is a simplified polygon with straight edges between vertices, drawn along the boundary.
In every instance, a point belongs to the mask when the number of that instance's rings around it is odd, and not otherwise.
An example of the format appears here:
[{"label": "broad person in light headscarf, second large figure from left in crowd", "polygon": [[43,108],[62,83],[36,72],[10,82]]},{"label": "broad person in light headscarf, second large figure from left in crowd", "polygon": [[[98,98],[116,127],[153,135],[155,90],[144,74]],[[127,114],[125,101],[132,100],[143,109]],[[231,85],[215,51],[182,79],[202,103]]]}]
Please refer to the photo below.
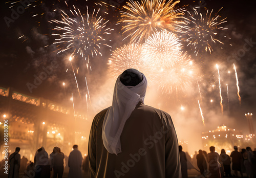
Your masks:
[{"label": "broad person in light headscarf, second large figure from left in crowd", "polygon": [[49,156],[44,147],[39,148],[34,158],[35,178],[50,178]]}]

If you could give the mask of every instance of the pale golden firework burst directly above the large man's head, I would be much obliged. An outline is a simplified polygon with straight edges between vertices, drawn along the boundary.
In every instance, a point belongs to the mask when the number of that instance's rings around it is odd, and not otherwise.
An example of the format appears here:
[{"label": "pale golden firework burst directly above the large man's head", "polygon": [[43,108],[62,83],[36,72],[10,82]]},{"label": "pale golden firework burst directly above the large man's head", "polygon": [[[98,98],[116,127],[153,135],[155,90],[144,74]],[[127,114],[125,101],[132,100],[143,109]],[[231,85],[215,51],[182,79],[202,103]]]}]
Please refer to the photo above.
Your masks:
[{"label": "pale golden firework burst directly above the large man's head", "polygon": [[142,46],[132,43],[117,48],[111,54],[108,64],[108,70],[115,78],[130,68],[137,69],[145,74],[143,70],[145,63],[142,55]]}]

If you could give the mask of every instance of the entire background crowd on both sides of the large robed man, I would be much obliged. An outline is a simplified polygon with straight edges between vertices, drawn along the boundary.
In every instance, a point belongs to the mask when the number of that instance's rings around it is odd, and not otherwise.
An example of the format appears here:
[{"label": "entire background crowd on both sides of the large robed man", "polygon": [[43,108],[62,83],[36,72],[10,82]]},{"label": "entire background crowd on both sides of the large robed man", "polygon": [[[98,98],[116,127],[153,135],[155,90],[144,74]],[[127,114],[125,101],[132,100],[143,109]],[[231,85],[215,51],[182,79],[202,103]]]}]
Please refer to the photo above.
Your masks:
[{"label": "entire background crowd on both sides of the large robed man", "polygon": [[[221,149],[220,154],[215,151],[214,146],[209,147],[209,152],[199,149],[195,151],[193,158],[187,152],[182,151],[179,146],[180,164],[182,177],[188,177],[188,169],[198,171],[197,177],[256,177],[256,148],[254,151],[250,147],[238,149],[233,146],[233,151],[228,155],[225,149]],[[59,147],[54,147],[48,155],[44,147],[37,149],[34,161],[29,161],[24,155],[21,158],[20,148],[16,147],[15,152],[9,155],[8,177],[18,178],[62,178],[64,170],[68,177],[82,177],[82,170],[89,172],[89,158],[85,155],[82,158],[78,146],[74,145],[69,156],[64,155]],[[5,160],[2,161],[4,165]],[[200,172],[200,173],[199,173]]]}]

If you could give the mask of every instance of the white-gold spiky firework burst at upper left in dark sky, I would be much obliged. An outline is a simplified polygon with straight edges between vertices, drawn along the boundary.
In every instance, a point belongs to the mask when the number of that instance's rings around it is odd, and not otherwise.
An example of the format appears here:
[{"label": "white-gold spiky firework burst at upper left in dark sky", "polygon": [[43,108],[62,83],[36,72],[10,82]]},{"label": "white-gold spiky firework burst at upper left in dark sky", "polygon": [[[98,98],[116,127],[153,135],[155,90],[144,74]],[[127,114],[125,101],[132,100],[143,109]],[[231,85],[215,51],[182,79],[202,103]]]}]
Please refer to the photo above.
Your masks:
[{"label": "white-gold spiky firework burst at upper left in dark sky", "polygon": [[58,44],[58,53],[72,50],[71,56],[80,55],[85,60],[97,55],[102,56],[103,47],[109,46],[110,40],[104,39],[105,35],[111,34],[113,29],[106,27],[109,20],[99,16],[99,10],[94,9],[93,14],[89,15],[87,7],[87,15],[81,15],[79,9],[73,6],[74,10],[70,10],[71,15],[61,11],[61,20],[51,20],[50,23],[57,24],[54,28],[56,36],[54,44]]}]

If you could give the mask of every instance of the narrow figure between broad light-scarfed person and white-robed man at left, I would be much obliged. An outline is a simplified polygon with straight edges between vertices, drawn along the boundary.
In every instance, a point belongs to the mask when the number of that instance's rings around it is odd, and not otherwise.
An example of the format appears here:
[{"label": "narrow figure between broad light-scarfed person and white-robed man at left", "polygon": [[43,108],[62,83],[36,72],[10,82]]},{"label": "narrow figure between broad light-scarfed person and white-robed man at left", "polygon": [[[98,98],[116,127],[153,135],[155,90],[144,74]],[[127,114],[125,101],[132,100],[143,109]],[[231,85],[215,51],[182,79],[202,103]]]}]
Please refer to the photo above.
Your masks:
[{"label": "narrow figure between broad light-scarfed person and white-robed man at left", "polygon": [[53,177],[54,178],[62,178],[63,175],[63,160],[65,158],[64,153],[60,151],[59,147],[54,147],[53,152],[50,154],[50,165],[51,169],[53,170]]}]

